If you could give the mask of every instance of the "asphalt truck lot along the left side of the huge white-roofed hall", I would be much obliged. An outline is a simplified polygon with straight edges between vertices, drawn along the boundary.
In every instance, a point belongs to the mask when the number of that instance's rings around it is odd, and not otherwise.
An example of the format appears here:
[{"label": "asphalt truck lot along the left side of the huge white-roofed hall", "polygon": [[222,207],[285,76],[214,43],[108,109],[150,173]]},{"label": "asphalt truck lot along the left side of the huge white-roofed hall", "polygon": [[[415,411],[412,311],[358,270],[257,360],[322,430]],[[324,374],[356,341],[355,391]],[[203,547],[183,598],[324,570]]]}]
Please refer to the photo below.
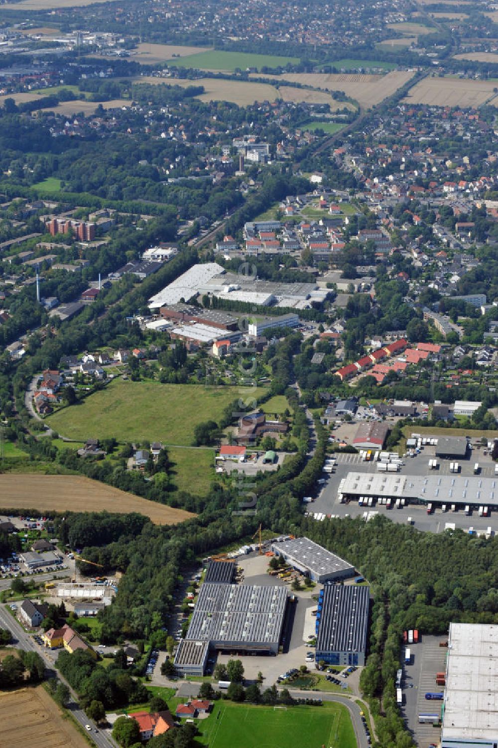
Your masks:
[{"label": "asphalt truck lot along the left side of the huge white-roofed hall", "polygon": [[[431,724],[420,724],[419,714],[440,714],[443,702],[425,699],[425,693],[443,692],[443,686],[437,686],[436,673],[446,669],[448,649],[440,647],[444,637],[422,637],[417,644],[410,645],[411,661],[403,664],[403,706],[401,713],[407,721],[407,727],[419,748],[428,748],[440,740],[440,728]],[[402,650],[404,654],[404,650]]]}]

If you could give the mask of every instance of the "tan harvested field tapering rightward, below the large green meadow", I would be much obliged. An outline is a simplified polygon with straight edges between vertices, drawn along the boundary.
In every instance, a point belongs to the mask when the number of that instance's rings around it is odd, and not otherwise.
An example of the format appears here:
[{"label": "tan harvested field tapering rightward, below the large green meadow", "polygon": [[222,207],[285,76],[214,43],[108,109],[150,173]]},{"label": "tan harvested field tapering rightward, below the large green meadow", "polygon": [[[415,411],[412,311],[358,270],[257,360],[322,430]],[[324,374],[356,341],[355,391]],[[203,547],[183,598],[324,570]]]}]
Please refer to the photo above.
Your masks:
[{"label": "tan harvested field tapering rightward, below the large green meadow", "polygon": [[[177,524],[194,516],[183,509],[172,509],[83,476],[40,473],[0,475],[1,508],[40,509],[40,512],[50,509],[55,512],[139,512],[154,524]],[[1,711],[0,745],[7,745],[1,741]]]}]

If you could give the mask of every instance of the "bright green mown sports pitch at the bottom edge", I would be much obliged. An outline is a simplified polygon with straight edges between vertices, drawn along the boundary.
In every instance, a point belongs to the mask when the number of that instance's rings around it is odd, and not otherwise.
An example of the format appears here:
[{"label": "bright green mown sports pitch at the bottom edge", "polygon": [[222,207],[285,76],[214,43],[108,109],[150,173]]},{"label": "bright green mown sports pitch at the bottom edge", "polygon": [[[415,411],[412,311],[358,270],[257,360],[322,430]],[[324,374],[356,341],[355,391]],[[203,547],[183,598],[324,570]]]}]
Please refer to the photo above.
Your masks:
[{"label": "bright green mown sports pitch at the bottom edge", "polygon": [[293,748],[327,746],[356,748],[347,709],[326,702],[324,706],[284,709],[215,702],[207,720],[197,723],[200,740],[210,748]]}]

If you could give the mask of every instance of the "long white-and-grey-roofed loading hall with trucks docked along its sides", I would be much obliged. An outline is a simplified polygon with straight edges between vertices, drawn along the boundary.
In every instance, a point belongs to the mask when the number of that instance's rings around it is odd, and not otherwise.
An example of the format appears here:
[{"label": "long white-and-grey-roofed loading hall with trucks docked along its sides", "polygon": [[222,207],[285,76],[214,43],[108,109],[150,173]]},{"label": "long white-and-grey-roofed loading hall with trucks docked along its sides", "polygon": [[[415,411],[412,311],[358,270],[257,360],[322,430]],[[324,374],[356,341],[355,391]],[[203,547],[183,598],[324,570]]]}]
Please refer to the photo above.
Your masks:
[{"label": "long white-and-grey-roofed loading hall with trucks docked along its sides", "polygon": [[374,497],[404,499],[414,503],[432,503],[433,506],[453,504],[458,508],[469,506],[476,509],[487,506],[498,508],[497,478],[449,475],[400,475],[399,473],[347,473],[341,486],[341,494],[347,499]]}]

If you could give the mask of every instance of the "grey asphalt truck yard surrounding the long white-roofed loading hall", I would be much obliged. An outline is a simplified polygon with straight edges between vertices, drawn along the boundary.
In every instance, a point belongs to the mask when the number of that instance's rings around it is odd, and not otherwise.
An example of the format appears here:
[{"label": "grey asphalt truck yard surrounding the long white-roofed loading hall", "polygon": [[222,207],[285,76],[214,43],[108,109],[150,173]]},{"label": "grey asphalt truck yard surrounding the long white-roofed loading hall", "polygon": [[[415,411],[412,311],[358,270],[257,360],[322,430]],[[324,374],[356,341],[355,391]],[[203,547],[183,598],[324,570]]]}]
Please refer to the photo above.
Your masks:
[{"label": "grey asphalt truck yard surrounding the long white-roofed loading hall", "polygon": [[[335,453],[335,459],[337,461],[335,466],[335,472],[324,474],[325,482],[323,485],[319,485],[318,488],[321,490],[315,497],[315,501],[309,503],[306,507],[309,512],[323,513],[325,515],[332,515],[335,517],[344,518],[345,516],[350,517],[362,517],[365,513],[365,506],[359,506],[356,501],[350,501],[350,503],[341,504],[338,501],[338,486],[347,473],[351,471],[361,473],[377,473],[376,462],[362,462],[359,454],[347,454],[347,453]],[[403,458],[404,465],[401,466],[401,470],[397,473],[398,475],[429,475],[431,471],[428,468],[429,459],[434,458],[434,447],[423,447],[420,454],[413,458]],[[439,468],[437,474],[449,475],[449,465],[453,462],[450,459],[437,458]],[[494,476],[494,462],[491,460],[491,456],[484,455],[483,450],[473,450],[473,454],[465,459],[458,460],[461,470],[459,475],[461,476],[473,476],[474,465],[479,462],[479,475],[482,477]],[[491,527],[491,533],[498,533],[498,514],[491,513],[489,517],[479,517],[478,512],[474,511],[471,515],[467,516],[464,513],[464,509],[459,509],[456,512],[443,512],[441,509],[436,509],[435,512],[428,515],[425,506],[421,504],[410,504],[400,509],[387,509],[383,505],[374,505],[368,509],[371,516],[377,512],[380,515],[385,514],[393,522],[406,524],[408,518],[412,518],[413,527],[417,530],[424,530],[425,532],[431,533],[442,533],[448,529],[447,524],[450,525],[449,529],[452,529],[452,525],[461,530],[468,531],[469,527],[473,527],[476,533],[486,533],[488,527]]]}]

